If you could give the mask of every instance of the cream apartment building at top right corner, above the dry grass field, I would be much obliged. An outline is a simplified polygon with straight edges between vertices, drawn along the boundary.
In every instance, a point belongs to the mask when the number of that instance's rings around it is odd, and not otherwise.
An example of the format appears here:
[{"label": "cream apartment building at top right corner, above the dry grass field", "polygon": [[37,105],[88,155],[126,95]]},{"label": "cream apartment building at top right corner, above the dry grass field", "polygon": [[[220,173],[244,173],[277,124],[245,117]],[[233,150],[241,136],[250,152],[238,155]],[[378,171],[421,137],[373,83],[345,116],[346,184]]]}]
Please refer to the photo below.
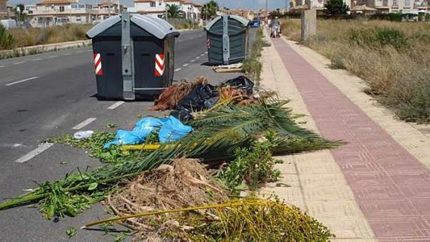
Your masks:
[{"label": "cream apartment building at top right corner, above the dry grass field", "polygon": [[411,13],[427,10],[427,0],[357,0],[356,5],[366,5],[375,8],[379,13]]}]

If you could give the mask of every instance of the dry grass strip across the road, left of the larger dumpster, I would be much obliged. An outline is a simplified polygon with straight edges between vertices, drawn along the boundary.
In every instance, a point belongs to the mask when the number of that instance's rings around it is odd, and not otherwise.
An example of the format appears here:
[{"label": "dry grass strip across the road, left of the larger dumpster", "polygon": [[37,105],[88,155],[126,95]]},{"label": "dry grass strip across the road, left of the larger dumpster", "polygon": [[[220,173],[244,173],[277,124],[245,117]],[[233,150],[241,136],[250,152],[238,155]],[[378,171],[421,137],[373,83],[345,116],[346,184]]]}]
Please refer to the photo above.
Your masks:
[{"label": "dry grass strip across the road, left of the larger dumpster", "polygon": [[89,24],[52,26],[47,28],[46,37],[43,36],[42,28],[11,29],[8,32],[13,36],[14,41],[9,47],[18,48],[37,44],[86,40],[86,31],[90,27],[92,25]]}]

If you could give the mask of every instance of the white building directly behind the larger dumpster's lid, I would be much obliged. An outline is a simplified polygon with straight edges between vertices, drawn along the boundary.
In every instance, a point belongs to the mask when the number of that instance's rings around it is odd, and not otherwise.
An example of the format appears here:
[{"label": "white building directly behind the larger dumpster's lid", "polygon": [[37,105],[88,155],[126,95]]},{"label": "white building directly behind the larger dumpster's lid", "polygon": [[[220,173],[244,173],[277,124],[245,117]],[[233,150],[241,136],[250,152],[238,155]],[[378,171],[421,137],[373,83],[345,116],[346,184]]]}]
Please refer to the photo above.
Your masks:
[{"label": "white building directly behind the larger dumpster's lid", "polygon": [[134,8],[130,12],[159,16],[166,13],[168,4],[178,5],[186,19],[201,18],[200,5],[189,0],[134,0]]}]

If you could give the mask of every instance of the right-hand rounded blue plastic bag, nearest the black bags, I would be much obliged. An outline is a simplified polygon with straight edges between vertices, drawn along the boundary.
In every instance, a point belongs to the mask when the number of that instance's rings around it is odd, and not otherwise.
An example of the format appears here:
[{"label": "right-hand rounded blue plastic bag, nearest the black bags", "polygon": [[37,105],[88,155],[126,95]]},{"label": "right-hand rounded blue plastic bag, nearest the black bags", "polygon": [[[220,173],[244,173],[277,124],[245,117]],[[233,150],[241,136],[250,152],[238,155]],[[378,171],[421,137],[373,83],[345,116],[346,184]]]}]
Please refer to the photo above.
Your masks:
[{"label": "right-hand rounded blue plastic bag, nearest the black bags", "polygon": [[169,116],[161,119],[163,126],[158,132],[160,143],[172,142],[182,139],[190,132],[193,132],[191,126],[183,125],[179,119]]}]

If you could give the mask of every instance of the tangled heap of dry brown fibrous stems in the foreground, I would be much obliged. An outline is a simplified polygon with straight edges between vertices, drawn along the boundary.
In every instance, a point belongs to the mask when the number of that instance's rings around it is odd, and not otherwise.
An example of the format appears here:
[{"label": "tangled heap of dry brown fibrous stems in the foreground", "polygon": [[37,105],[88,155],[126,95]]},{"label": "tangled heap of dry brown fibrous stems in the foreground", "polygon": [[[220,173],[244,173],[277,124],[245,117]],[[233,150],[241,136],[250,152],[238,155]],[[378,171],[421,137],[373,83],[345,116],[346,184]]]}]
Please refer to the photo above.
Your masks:
[{"label": "tangled heap of dry brown fibrous stems in the foreground", "polygon": [[[123,188],[110,194],[105,200],[105,204],[117,216],[202,206],[228,200],[228,191],[215,181],[198,159],[175,159],[171,165],[161,165],[125,183]],[[178,220],[168,215],[141,217],[124,222],[125,226],[135,231],[135,237],[144,239],[162,237],[160,234],[163,228],[168,228],[167,225],[172,223],[179,224]]]}]

